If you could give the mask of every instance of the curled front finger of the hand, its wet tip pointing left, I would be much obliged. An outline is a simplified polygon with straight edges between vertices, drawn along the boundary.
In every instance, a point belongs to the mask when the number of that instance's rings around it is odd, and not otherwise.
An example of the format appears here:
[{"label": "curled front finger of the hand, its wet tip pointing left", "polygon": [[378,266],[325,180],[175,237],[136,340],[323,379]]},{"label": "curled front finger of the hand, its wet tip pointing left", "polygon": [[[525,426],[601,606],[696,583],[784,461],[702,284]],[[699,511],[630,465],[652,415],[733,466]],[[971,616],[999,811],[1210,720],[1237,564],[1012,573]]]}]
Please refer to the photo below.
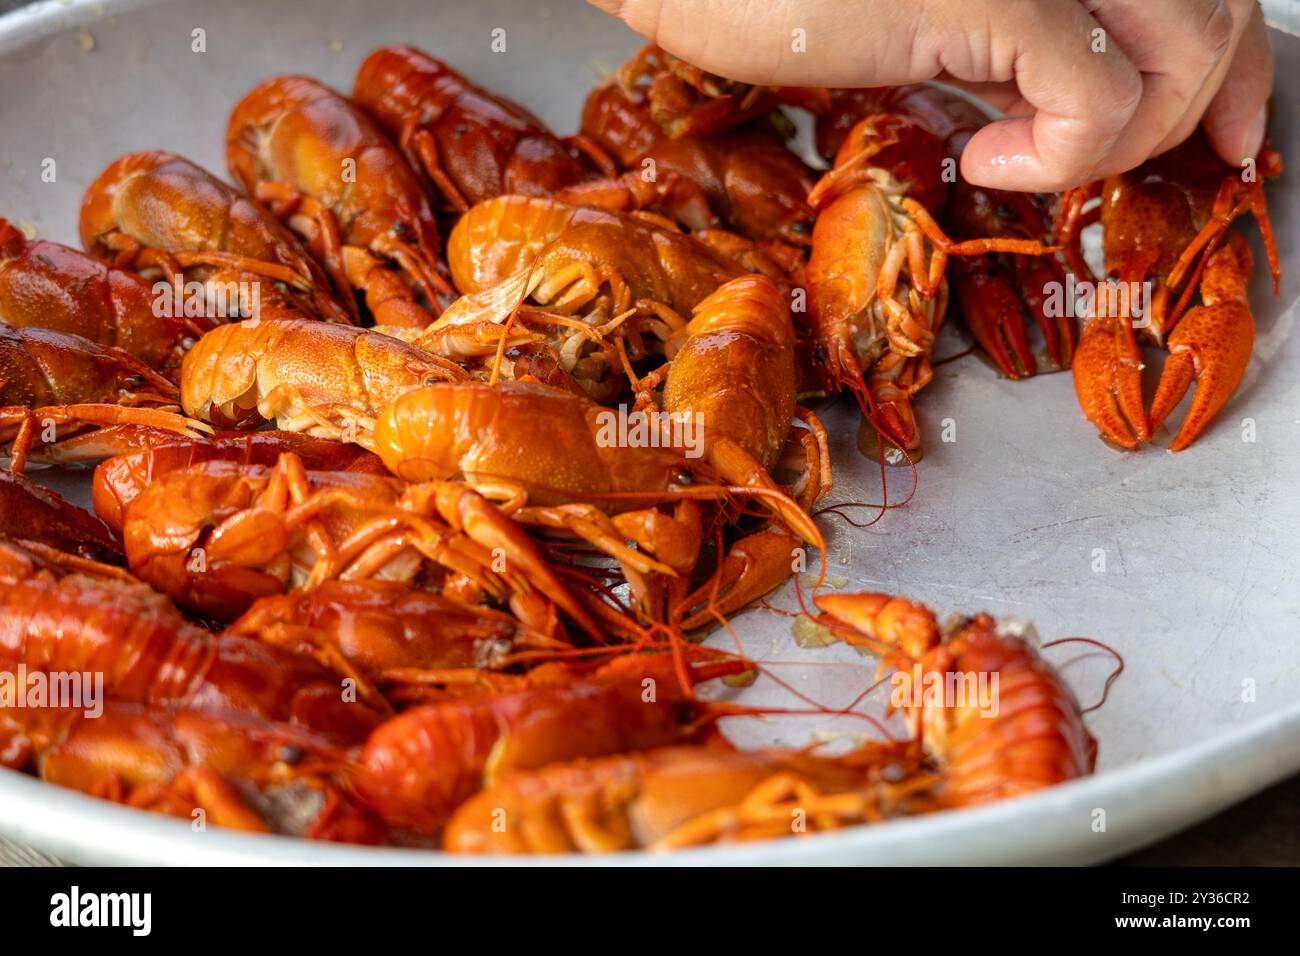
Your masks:
[{"label": "curled front finger of the hand, its wet tip pointing left", "polygon": [[[1096,178],[1141,101],[1136,68],[1118,44],[1097,44],[1101,27],[1078,4],[1008,5],[992,16],[998,22],[987,25],[988,34],[1014,38],[1005,66],[980,70],[952,56],[945,65],[967,81],[1008,79],[1014,70],[1035,113],[1000,120],[971,137],[962,174],[980,186],[1030,191]],[[967,46],[978,49],[976,38]]]}]

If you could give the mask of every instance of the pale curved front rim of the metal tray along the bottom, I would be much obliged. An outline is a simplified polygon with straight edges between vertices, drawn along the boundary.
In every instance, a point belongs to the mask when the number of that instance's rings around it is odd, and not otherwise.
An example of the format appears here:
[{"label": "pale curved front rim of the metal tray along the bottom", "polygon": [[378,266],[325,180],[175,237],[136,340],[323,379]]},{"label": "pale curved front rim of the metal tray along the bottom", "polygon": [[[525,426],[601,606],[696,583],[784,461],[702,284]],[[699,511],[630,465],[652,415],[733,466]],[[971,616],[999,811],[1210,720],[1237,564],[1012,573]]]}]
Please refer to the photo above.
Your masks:
[{"label": "pale curved front rim of the metal tray along the bottom", "polygon": [[[0,834],[62,860],[126,865],[942,865],[961,840],[962,864],[1096,864],[1209,817],[1300,769],[1300,705],[1152,760],[987,806],[855,826],[797,840],[766,840],[607,856],[463,856],[432,849],[313,843],[230,830],[194,834],[185,821],[135,810],[0,773]],[[1093,808],[1108,829],[1093,832]],[[1076,829],[1062,839],[1062,819]],[[1114,825],[1112,825],[1114,823]],[[75,835],[74,835],[75,832]],[[1008,839],[1008,838],[1013,839]],[[1045,848],[1045,849],[1044,849]],[[988,856],[985,856],[985,853]]]}]

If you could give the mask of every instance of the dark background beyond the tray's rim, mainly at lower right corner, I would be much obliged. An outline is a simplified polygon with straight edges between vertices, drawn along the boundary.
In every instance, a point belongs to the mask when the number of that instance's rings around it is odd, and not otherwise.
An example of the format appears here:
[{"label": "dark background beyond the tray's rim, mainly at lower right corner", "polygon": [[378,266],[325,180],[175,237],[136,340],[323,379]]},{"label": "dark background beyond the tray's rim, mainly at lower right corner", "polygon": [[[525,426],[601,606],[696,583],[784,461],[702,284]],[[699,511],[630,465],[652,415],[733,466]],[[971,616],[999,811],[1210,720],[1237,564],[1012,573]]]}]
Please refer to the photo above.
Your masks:
[{"label": "dark background beyond the tray's rim, mainly at lower right corner", "polygon": [[[29,0],[0,0],[0,14]],[[17,861],[0,842],[0,865]],[[39,857],[26,860],[38,862]],[[1295,866],[1300,865],[1300,777],[1266,790],[1149,849],[1123,857],[1121,865]]]}]

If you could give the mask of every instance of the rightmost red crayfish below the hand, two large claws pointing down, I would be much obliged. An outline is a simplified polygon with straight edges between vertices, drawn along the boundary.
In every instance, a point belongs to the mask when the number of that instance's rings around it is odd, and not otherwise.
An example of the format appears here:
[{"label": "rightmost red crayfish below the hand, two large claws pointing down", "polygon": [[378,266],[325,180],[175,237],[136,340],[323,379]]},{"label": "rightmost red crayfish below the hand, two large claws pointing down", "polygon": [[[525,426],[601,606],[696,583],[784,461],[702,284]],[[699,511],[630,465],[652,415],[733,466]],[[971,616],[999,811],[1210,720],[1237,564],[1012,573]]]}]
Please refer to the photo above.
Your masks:
[{"label": "rightmost red crayfish below the hand, two large claws pointing down", "polygon": [[[1062,198],[1058,239],[1071,268],[1092,278],[1079,243],[1082,229],[1097,220],[1106,274],[1119,284],[1093,284],[1095,315],[1074,363],[1079,405],[1102,437],[1126,449],[1138,447],[1196,380],[1192,410],[1170,445],[1182,451],[1232,397],[1254,341],[1245,300],[1251,256],[1244,246],[1236,252],[1216,250],[1228,237],[1232,221],[1252,213],[1277,294],[1280,264],[1262,179],[1280,172],[1282,159],[1268,147],[1257,164],[1232,169],[1197,130],[1182,146],[1138,169]],[[1100,207],[1086,212],[1084,206],[1098,193]],[[1204,306],[1188,312],[1199,282]],[[1118,295],[1104,294],[1109,289]],[[1184,321],[1190,325],[1179,334]],[[1166,364],[1149,414],[1141,395],[1140,338],[1179,355]]]}]

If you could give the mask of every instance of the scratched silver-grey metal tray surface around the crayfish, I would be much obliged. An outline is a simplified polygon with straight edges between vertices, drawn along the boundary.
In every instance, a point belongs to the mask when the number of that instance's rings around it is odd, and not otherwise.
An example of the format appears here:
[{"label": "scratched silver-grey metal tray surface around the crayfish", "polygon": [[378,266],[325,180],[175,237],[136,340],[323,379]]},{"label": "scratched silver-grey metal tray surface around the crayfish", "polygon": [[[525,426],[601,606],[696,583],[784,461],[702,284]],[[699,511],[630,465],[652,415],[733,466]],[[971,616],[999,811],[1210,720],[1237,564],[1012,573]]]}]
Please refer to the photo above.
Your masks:
[{"label": "scratched silver-grey metal tray surface around the crayfish", "polygon": [[[1273,13],[1295,22],[1294,12]],[[192,51],[198,29],[205,53]],[[491,52],[494,29],[506,31],[502,53]],[[166,147],[222,173],[225,117],[254,83],[296,72],[346,90],[367,52],[396,40],[447,59],[560,131],[575,127],[598,68],[638,46],[576,3],[237,1],[220,12],[147,0],[39,4],[0,21],[0,215],[75,243],[82,190],[117,155]],[[1300,39],[1275,33],[1274,44],[1283,78],[1274,144],[1300,157],[1300,92],[1284,81],[1300,68]],[[55,182],[42,181],[47,157]],[[1287,264],[1300,234],[1287,178],[1271,190],[1271,209]],[[1088,862],[1300,769],[1300,705],[1288,693],[1300,678],[1295,272],[1277,300],[1257,274],[1258,337],[1247,380],[1190,451],[1110,449],[1079,414],[1069,376],[1010,382],[963,359],[936,369],[919,401],[927,455],[915,498],[867,529],[823,519],[837,587],[905,592],[942,610],[987,609],[1032,620],[1044,640],[1086,633],[1119,650],[1128,669],[1089,715],[1101,747],[1097,777],[980,810],[671,861]],[[950,334],[940,354],[961,347]],[[854,450],[854,414],[838,406],[826,420],[836,436],[835,499],[879,501],[879,477]],[[941,441],[945,425],[953,441]],[[1245,441],[1252,429],[1254,441]],[[84,485],[84,476],[48,480]],[[889,480],[890,499],[901,499],[910,472],[890,470]],[[793,593],[774,604],[793,606]],[[812,662],[779,672],[820,702],[852,700],[871,676],[872,662],[845,648],[797,648],[786,618],[750,611],[734,631],[754,657]],[[1109,669],[1104,656],[1069,648],[1049,656],[1082,700],[1096,700]],[[832,661],[841,666],[823,666]],[[744,698],[793,702],[771,682]],[[733,722],[728,732],[741,743],[800,743],[827,727]],[[0,773],[0,834],[79,862],[463,862],[191,834],[183,823],[8,773]]]}]

